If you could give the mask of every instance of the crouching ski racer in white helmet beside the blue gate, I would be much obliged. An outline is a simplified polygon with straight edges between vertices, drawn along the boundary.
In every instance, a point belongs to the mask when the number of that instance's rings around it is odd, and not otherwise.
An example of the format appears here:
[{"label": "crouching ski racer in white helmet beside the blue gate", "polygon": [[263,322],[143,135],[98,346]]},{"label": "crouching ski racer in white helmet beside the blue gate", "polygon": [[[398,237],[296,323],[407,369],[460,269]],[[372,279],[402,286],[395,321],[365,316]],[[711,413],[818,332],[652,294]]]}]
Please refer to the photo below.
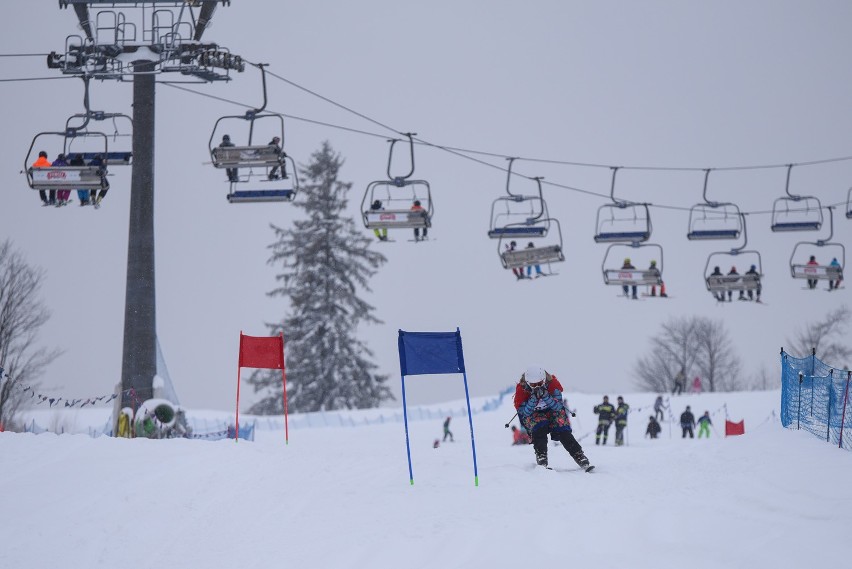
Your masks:
[{"label": "crouching ski racer in white helmet beside the blue gate", "polygon": [[558,440],[581,468],[593,467],[571,432],[568,411],[562,400],[562,384],[543,367],[530,366],[515,388],[515,409],[530,433],[536,464],[547,466],[547,434]]}]

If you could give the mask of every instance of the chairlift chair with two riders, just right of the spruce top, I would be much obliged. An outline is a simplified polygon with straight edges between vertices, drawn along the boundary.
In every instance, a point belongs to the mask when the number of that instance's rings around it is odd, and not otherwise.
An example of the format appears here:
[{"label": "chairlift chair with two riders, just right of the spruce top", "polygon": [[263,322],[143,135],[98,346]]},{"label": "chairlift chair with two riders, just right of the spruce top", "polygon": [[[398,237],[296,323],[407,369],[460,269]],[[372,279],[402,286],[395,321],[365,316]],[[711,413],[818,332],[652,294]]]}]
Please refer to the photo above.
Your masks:
[{"label": "chairlift chair with two riders, just right of the spruce top", "polygon": [[[387,180],[376,180],[367,185],[361,199],[361,213],[364,227],[367,229],[427,229],[432,227],[434,204],[432,189],[426,180],[412,180],[414,174],[414,140],[416,133],[407,133],[411,150],[411,170],[405,176],[393,176],[393,147],[399,142],[390,140],[388,151]],[[380,202],[381,207],[373,209]],[[420,202],[420,208],[413,210],[414,202]]]}]

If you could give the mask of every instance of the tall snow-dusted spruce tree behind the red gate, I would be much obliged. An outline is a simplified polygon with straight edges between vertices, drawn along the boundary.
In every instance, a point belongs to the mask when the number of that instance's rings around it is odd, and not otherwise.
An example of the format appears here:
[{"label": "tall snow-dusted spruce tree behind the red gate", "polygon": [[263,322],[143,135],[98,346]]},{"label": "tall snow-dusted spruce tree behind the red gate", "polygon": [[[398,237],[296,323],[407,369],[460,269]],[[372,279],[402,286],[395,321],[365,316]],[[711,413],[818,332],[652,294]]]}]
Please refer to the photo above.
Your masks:
[{"label": "tall snow-dusted spruce tree behind the red gate", "polygon": [[[388,376],[379,375],[373,352],[356,337],[361,323],[379,323],[374,307],[358,297],[386,262],[371,239],[345,214],[352,184],[337,179],[343,160],[328,142],[301,169],[305,179],[295,207],[307,219],[292,229],[272,225],[271,265],[280,266],[270,296],[288,298],[290,313],[270,333],[284,333],[288,410],[309,412],[376,407],[392,399]],[[281,373],[257,370],[248,379],[264,393],[251,413],[283,412]]]}]

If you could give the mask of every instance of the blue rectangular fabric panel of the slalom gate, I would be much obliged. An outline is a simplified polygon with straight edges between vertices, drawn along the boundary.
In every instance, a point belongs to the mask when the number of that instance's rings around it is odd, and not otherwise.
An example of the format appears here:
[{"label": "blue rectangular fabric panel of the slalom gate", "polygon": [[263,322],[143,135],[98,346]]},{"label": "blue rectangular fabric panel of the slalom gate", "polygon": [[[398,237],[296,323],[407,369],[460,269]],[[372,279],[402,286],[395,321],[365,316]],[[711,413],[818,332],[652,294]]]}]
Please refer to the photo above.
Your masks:
[{"label": "blue rectangular fabric panel of the slalom gate", "polygon": [[461,334],[399,331],[402,375],[464,373]]}]

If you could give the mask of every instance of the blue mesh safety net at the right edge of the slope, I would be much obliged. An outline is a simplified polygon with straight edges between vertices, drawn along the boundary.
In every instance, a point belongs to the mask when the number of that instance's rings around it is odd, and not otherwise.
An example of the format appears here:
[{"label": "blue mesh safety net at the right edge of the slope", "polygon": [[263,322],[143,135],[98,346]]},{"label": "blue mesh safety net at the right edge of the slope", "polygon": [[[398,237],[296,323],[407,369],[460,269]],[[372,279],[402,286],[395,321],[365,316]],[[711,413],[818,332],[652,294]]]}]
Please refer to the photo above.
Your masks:
[{"label": "blue mesh safety net at the right edge of the slope", "polygon": [[852,374],[781,352],[781,424],[852,450]]}]

